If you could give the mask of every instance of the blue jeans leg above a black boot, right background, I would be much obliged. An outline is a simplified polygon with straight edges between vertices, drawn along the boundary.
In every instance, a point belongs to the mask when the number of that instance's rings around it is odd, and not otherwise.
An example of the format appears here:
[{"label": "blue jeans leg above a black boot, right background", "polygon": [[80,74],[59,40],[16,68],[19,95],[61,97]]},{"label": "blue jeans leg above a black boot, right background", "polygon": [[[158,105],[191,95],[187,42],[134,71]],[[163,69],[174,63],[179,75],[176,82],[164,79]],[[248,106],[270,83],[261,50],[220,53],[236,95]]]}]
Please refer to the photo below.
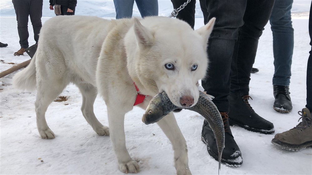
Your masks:
[{"label": "blue jeans leg above a black boot, right background", "polygon": [[273,85],[289,86],[294,51],[294,29],[291,21],[293,0],[275,0],[270,17],[273,33]]}]

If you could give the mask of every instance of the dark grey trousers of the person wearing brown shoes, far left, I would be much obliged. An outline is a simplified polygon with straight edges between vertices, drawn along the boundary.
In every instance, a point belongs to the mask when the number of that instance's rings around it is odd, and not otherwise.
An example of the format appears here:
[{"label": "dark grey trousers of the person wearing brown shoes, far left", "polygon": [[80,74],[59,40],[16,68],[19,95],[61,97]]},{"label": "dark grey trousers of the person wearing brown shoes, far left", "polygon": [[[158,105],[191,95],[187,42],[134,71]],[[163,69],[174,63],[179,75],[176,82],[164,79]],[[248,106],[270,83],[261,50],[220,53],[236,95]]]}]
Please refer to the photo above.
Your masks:
[{"label": "dark grey trousers of the person wearing brown shoes, far left", "polygon": [[38,43],[39,32],[42,27],[43,0],[12,0],[12,3],[16,13],[17,31],[20,38],[19,43],[21,48],[28,48],[28,17],[30,16],[30,21],[32,22],[34,39]]}]

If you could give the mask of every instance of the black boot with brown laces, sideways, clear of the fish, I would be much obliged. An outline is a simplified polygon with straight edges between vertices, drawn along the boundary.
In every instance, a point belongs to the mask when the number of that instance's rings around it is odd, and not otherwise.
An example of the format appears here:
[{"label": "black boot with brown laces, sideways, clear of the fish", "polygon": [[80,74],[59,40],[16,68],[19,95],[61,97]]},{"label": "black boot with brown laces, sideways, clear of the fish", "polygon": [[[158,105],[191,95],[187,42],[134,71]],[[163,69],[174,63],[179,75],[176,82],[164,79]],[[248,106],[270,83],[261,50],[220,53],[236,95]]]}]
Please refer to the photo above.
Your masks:
[{"label": "black boot with brown laces, sideways, clear of the fish", "polygon": [[248,103],[251,98],[248,92],[230,92],[228,99],[230,101],[229,122],[238,125],[246,130],[259,132],[262,134],[273,134],[274,125],[270,121],[259,116]]}]

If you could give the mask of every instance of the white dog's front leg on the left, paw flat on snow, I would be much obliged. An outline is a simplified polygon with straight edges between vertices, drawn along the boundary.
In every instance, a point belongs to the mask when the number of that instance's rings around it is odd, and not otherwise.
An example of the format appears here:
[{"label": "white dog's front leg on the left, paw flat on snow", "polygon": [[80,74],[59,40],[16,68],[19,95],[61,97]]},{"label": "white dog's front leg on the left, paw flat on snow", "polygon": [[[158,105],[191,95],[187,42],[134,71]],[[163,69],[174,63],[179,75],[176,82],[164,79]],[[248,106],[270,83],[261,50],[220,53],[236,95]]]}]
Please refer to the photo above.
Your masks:
[{"label": "white dog's front leg on the left, paw flat on snow", "polygon": [[[119,108],[118,108],[119,107]],[[139,164],[132,160],[127,148],[124,134],[124,115],[123,106],[107,106],[108,122],[110,125],[110,139],[118,160],[119,169],[123,173],[139,173]]]}]

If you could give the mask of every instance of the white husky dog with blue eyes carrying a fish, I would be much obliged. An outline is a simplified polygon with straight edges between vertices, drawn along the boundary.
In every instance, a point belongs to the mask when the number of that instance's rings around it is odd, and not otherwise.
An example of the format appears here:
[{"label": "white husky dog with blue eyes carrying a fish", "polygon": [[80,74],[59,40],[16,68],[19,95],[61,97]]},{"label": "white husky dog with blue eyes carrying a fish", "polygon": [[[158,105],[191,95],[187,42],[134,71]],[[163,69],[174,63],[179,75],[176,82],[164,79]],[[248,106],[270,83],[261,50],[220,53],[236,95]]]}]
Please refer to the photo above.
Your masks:
[{"label": "white husky dog with blue eyes carrying a fish", "polygon": [[[137,97],[134,83],[139,94],[148,95],[138,105],[144,110],[162,91],[176,106],[196,104],[195,84],[206,74],[207,40],[214,21],[193,31],[186,22],[169,17],[53,17],[42,26],[37,52],[29,66],[14,76],[13,85],[37,89],[37,128],[41,138],[52,139],[55,135],[45,119],[47,107],[69,83],[76,84],[83,116],[96,133],[110,135],[120,171],[138,173],[124,134],[124,115],[133,109]],[[93,112],[98,92],[107,105],[110,129]],[[177,174],[191,174],[186,141],[174,115],[157,124],[172,143]]]}]

